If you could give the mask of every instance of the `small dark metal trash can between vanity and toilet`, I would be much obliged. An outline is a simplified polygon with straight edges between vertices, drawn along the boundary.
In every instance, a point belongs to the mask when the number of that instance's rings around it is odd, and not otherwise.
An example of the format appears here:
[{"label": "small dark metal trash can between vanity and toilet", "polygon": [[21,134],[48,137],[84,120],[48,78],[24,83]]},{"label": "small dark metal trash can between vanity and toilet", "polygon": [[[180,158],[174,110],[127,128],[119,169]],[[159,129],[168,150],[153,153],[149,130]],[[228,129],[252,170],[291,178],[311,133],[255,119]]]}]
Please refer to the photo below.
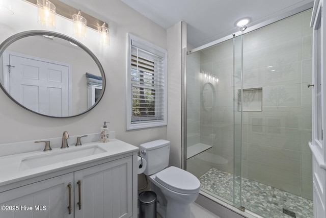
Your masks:
[{"label": "small dark metal trash can between vanity and toilet", "polygon": [[156,194],[143,191],[139,194],[139,218],[156,218]]}]

